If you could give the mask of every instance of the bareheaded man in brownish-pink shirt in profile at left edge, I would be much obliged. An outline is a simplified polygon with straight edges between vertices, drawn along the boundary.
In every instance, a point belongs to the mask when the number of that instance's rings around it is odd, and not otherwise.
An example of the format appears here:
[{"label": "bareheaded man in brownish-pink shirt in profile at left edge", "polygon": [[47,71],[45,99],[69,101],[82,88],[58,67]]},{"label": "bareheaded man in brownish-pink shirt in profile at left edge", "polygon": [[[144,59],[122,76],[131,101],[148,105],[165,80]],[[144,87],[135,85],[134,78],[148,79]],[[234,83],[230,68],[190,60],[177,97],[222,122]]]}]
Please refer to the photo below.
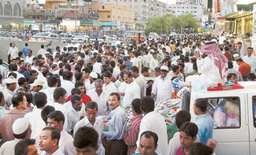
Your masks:
[{"label": "bareheaded man in brownish-pink shirt in profile at left edge", "polygon": [[8,140],[14,140],[14,135],[12,133],[12,124],[18,118],[24,118],[26,114],[23,110],[26,109],[26,97],[22,92],[17,92],[14,97],[12,97],[13,109],[6,112],[0,120],[0,128],[2,132],[2,143]]}]

